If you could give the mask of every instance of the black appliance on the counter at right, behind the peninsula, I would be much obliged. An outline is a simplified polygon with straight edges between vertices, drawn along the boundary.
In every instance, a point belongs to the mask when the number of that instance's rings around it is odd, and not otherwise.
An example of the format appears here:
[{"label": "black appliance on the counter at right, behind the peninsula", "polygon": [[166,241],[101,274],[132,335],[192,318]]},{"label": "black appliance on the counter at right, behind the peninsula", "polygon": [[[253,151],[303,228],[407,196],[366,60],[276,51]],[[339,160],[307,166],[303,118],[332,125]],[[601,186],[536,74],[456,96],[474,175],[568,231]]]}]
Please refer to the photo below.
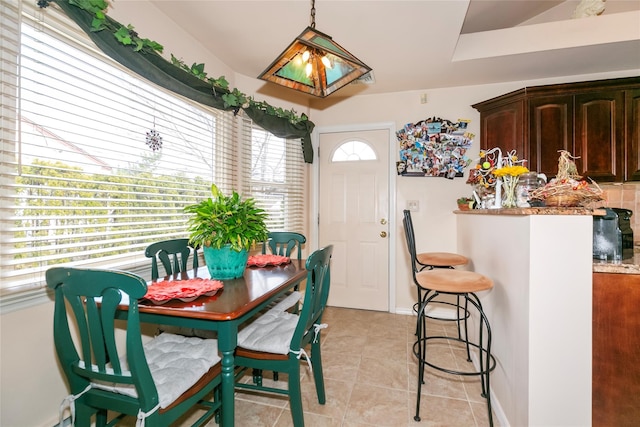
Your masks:
[{"label": "black appliance on the counter at right, behind the peninsula", "polygon": [[620,261],[633,258],[633,212],[622,208],[604,208],[603,216],[593,216],[593,258]]}]

